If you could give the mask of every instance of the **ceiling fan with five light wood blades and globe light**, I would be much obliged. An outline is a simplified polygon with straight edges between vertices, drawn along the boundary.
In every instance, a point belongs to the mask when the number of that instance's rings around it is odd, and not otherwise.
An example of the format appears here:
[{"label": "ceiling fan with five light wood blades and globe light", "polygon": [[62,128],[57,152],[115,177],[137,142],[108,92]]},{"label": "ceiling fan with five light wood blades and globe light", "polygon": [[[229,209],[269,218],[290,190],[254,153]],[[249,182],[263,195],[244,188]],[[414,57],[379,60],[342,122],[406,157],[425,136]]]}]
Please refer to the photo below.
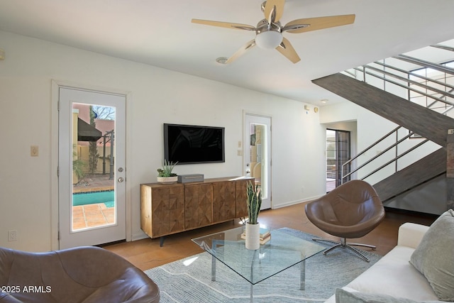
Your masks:
[{"label": "ceiling fan with five light wood blades and globe light", "polygon": [[305,33],[307,31],[317,31],[323,28],[332,28],[335,26],[345,26],[355,22],[355,15],[339,15],[325,16],[316,18],[301,18],[290,21],[284,26],[281,25],[279,19],[284,11],[285,0],[267,0],[262,3],[262,11],[265,14],[265,19],[260,20],[257,26],[249,26],[241,23],[230,23],[222,21],[209,21],[201,19],[192,19],[192,23],[204,24],[207,26],[219,26],[222,28],[233,28],[245,31],[255,31],[255,39],[250,40],[243,45],[235,54],[233,54],[226,64],[233,62],[240,55],[243,55],[247,50],[258,45],[259,48],[272,49],[275,48],[282,53],[288,60],[293,63],[301,60],[294,50],[289,40],[282,36],[283,32],[287,33]]}]

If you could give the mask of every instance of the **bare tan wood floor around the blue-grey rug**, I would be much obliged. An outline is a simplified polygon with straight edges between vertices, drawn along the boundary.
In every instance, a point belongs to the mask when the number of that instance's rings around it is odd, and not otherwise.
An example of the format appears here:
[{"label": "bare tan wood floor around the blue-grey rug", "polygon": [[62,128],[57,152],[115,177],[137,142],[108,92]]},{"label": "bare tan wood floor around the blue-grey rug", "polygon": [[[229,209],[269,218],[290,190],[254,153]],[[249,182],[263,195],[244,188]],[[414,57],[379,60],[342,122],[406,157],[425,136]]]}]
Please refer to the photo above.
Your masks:
[{"label": "bare tan wood floor around the blue-grey rug", "polygon": [[[377,246],[375,253],[384,255],[397,244],[397,230],[404,222],[414,222],[430,225],[436,219],[435,216],[425,214],[409,214],[401,211],[387,210],[384,221],[366,236],[354,239],[357,243],[367,243]],[[268,228],[276,229],[282,227],[294,228],[299,231],[311,233],[325,238],[336,238],[323,233],[306,218],[304,214],[304,203],[282,207],[280,209],[269,209],[260,212],[260,224]],[[203,250],[196,246],[191,239],[204,236],[209,233],[216,233],[240,225],[240,220],[229,221],[215,226],[198,228],[194,231],[186,231],[165,238],[164,246],[160,247],[160,239],[146,238],[139,241],[118,243],[104,248],[121,255],[141,270],[148,270],[156,266],[170,263],[181,258],[201,253]]]}]

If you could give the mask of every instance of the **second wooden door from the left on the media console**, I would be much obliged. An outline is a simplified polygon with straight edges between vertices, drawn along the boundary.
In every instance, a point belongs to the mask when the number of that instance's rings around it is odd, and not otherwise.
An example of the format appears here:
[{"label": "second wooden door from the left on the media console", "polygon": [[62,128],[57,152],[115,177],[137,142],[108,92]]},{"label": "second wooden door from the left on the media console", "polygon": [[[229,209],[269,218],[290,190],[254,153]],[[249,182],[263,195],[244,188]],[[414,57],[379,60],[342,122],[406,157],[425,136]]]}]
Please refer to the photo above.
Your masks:
[{"label": "second wooden door from the left on the media console", "polygon": [[192,184],[184,187],[184,228],[207,226],[213,222],[211,212],[212,188],[209,183]]}]

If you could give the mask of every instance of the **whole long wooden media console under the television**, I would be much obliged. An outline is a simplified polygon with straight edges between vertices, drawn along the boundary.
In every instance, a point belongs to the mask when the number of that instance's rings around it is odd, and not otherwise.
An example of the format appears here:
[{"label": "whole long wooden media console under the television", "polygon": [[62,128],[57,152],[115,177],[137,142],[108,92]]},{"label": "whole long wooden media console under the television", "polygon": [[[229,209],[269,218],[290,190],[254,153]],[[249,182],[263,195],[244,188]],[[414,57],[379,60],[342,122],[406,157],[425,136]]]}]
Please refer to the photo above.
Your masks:
[{"label": "whole long wooden media console under the television", "polygon": [[140,228],[157,238],[248,216],[248,182],[254,179],[140,184]]}]

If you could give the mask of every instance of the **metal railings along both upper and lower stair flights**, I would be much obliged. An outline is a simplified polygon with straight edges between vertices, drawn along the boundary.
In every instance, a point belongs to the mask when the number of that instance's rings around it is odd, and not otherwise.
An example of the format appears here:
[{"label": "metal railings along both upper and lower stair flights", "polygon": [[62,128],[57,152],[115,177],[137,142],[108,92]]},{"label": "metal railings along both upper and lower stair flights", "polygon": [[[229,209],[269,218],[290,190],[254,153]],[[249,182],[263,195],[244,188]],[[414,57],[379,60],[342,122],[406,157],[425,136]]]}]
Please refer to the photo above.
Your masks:
[{"label": "metal railings along both upper and lower stair flights", "polygon": [[[446,45],[431,45],[431,47],[454,52],[454,48]],[[454,57],[454,54],[451,55],[451,59],[452,57]],[[406,62],[407,65],[409,64],[410,68],[406,70],[396,66],[402,61]],[[390,64],[390,62],[395,62],[395,65]],[[454,116],[454,112],[450,112],[454,109],[454,61],[446,60],[445,62],[443,64],[433,63],[402,54],[346,70],[343,74],[383,89],[386,92],[395,93],[408,101],[416,101],[414,103],[440,114]],[[426,69],[424,70],[425,73],[428,69],[430,71],[435,70],[438,72],[438,76],[441,73],[442,79],[421,75],[421,70],[423,69]],[[418,101],[419,99],[423,99],[423,101]],[[405,135],[402,136],[402,133]],[[402,169],[402,167],[399,167],[399,160],[414,150],[416,150],[415,153],[418,153],[418,148],[430,142],[430,140],[422,138],[421,142],[414,145],[406,143],[407,139],[415,136],[416,134],[413,131],[407,130],[403,126],[397,126],[392,131],[389,131],[389,133],[343,164],[341,168],[342,183],[353,174],[359,175],[358,172],[360,170],[362,170],[362,175],[359,177],[361,180],[365,180],[377,172],[381,172],[380,177],[389,177],[389,175],[399,171],[399,169]],[[392,141],[392,143],[383,148],[383,143],[389,141]],[[379,145],[381,148],[377,148]],[[383,150],[377,155],[366,158],[367,152],[377,149]],[[390,153],[393,152],[394,155],[390,157]],[[372,162],[377,163],[375,167]],[[405,160],[404,162],[408,161]],[[383,173],[386,167],[388,167],[387,173]],[[392,167],[392,169],[390,170],[389,167]]]}]

